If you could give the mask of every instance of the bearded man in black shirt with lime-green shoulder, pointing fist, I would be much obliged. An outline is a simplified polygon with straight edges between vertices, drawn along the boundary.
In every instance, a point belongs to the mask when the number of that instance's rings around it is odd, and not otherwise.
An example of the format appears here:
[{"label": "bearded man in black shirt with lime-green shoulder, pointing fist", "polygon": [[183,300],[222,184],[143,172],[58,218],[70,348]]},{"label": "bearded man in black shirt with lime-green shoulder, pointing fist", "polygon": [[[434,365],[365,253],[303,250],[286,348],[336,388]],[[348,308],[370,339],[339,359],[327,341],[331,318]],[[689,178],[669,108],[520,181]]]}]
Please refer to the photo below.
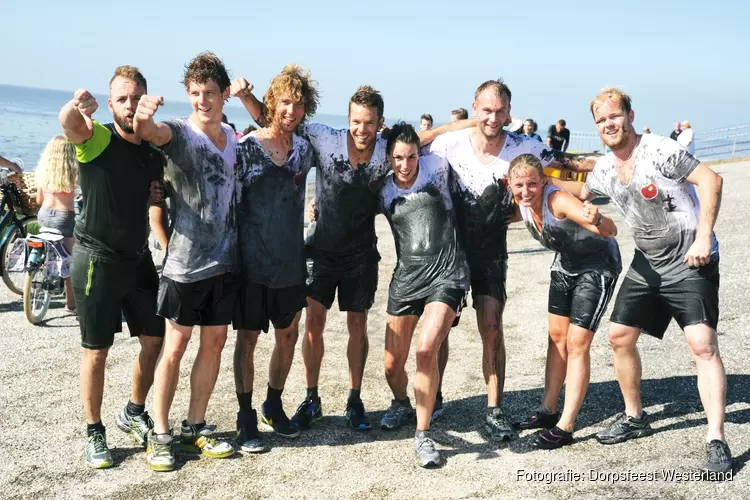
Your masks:
[{"label": "bearded man in black shirt with lime-green shoulder, pointing fist", "polygon": [[141,446],[153,424],[144,410],[164,338],[164,320],[156,315],[159,280],[148,251],[149,185],[161,179],[162,156],[133,132],[146,79],[132,66],[120,66],[109,84],[114,123],[92,120],[98,108],[87,90],[76,91],[59,120],[75,145],[80,163],[84,208],[76,222],[71,281],[81,327],[81,399],[86,413],[89,467],[111,467],[101,421],[104,366],[125,313],[141,351],[133,367],[133,389],[117,426]]}]

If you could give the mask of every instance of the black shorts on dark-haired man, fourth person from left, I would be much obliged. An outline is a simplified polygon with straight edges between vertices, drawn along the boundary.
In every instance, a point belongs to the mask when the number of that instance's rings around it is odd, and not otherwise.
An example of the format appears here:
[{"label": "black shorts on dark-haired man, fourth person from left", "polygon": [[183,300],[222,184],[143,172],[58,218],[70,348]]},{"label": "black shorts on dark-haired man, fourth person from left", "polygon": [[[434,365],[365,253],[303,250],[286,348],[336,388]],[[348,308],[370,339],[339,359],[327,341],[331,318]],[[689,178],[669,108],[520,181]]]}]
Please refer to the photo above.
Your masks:
[{"label": "black shorts on dark-haired man, fourth person from left", "polygon": [[307,247],[307,296],[330,309],[338,289],[340,311],[365,312],[375,302],[379,260],[376,249],[339,256]]}]

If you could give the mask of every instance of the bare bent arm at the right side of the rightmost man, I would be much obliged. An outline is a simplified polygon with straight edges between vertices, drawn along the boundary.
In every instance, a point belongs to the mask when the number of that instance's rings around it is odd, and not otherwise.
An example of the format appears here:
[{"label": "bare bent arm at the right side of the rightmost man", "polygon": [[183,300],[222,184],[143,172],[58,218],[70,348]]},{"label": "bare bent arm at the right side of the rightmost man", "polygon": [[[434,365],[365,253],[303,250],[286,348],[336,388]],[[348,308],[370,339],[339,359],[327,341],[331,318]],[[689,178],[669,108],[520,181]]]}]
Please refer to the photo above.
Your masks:
[{"label": "bare bent arm at the right side of the rightmost man", "polygon": [[687,181],[696,187],[701,208],[695,241],[685,254],[684,262],[693,267],[700,267],[711,260],[714,225],[721,207],[724,179],[709,167],[699,164],[688,175]]}]

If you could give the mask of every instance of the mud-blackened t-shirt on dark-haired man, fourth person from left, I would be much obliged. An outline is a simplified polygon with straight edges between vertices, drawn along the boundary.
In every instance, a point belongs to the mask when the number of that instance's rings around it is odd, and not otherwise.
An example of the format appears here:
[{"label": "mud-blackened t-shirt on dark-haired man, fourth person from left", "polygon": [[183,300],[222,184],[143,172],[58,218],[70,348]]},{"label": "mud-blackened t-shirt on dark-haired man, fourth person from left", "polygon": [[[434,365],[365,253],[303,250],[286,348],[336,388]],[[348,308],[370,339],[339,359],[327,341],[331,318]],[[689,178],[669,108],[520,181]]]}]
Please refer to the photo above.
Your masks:
[{"label": "mud-blackened t-shirt on dark-haired man, fourth person from left", "polygon": [[336,254],[361,254],[375,247],[378,189],[389,171],[385,139],[378,135],[367,165],[349,162],[346,129],[318,123],[300,127],[315,151],[315,231],[308,245]]}]

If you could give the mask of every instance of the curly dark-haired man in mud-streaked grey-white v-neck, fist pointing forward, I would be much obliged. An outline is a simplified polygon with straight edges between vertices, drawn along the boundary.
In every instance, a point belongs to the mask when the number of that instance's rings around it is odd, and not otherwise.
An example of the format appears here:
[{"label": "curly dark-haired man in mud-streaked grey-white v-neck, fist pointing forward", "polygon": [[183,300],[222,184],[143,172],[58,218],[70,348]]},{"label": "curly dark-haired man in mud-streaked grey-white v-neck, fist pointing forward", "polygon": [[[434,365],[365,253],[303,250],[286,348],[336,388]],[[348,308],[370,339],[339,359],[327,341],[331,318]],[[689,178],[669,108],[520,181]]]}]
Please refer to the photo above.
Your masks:
[{"label": "curly dark-haired man in mud-streaked grey-white v-neck, fist pointing forward", "polygon": [[144,95],[134,120],[136,135],[167,155],[174,221],[159,283],[158,314],[167,319],[167,327],[154,380],[154,430],[146,451],[148,465],[157,471],[174,469],[169,408],[195,325],[201,327],[200,347],[190,376],[190,406],[182,421],[180,448],[213,458],[234,455],[229,443],[211,436],[215,426],[205,421],[239,288],[236,137],[221,122],[230,82],[222,61],[204,52],[188,63],[183,83],[193,109],[189,117],[156,123],[154,115],[164,99]]}]

